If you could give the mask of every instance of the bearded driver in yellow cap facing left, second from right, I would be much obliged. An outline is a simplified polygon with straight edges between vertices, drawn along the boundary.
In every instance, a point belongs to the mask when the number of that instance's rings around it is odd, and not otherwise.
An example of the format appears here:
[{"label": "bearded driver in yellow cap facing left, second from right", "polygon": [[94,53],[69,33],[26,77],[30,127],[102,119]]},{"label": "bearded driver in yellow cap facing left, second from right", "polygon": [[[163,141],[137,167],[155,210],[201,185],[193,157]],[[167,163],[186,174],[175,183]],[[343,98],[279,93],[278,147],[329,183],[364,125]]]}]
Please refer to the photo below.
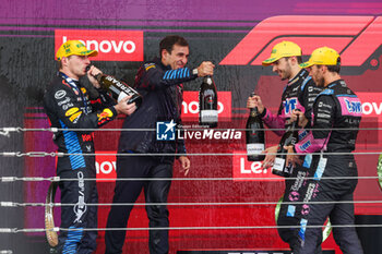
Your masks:
[{"label": "bearded driver in yellow cap facing left, second from right", "polygon": [[[282,102],[277,114],[273,114],[271,110],[264,107],[260,96],[250,97],[247,101],[248,108],[258,107],[265,125],[270,129],[278,129],[274,132],[279,136],[291,124],[290,116],[293,110],[299,109],[305,116],[310,118],[313,101],[321,92],[321,88],[315,86],[309,76],[308,71],[299,66],[299,63],[302,62],[301,53],[301,48],[297,44],[282,41],[273,47],[271,57],[263,61],[263,65],[272,65],[273,72],[277,73],[283,81],[288,80],[282,95]],[[302,138],[307,133],[300,131],[299,134],[299,137]],[[263,161],[263,168],[273,165],[277,147],[272,146],[265,149],[266,157]],[[307,188],[305,178],[309,177],[309,173],[307,168],[296,166],[293,168],[290,176],[293,179],[285,180],[283,203],[277,218],[278,226],[298,225],[300,205],[288,203],[301,202],[303,199],[302,193],[305,193],[305,189]],[[298,231],[296,228],[278,228],[278,234],[283,241],[289,244],[291,250],[298,244]],[[318,252],[320,253],[320,250]]]}]

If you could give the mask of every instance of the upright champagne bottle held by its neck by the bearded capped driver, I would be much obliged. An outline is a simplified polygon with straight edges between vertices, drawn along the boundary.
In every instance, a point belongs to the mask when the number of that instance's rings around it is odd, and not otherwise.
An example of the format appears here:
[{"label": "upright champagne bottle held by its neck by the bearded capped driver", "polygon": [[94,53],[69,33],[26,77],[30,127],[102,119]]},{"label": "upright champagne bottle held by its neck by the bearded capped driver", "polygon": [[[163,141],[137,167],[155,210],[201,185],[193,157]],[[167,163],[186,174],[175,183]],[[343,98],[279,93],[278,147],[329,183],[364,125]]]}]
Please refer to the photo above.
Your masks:
[{"label": "upright champagne bottle held by its neck by the bearded capped driver", "polygon": [[[254,93],[251,94],[251,97]],[[265,158],[261,154],[265,149],[264,125],[258,111],[258,107],[250,109],[246,124],[247,159],[249,161],[262,161]]]}]

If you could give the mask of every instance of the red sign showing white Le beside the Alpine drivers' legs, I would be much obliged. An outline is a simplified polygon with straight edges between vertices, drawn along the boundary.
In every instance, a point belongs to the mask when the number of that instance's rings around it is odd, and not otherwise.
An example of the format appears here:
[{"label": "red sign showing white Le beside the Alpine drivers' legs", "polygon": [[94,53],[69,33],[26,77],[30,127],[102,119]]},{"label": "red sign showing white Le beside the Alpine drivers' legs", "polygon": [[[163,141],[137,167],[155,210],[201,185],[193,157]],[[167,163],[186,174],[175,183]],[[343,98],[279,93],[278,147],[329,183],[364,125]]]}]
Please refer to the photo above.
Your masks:
[{"label": "red sign showing white Le beside the Alpine drivers' legs", "polygon": [[[244,154],[246,150],[234,152],[234,181],[283,181],[283,178],[272,173],[271,168],[264,169],[261,161],[248,161]],[[241,180],[240,178],[246,178],[246,180]]]}]

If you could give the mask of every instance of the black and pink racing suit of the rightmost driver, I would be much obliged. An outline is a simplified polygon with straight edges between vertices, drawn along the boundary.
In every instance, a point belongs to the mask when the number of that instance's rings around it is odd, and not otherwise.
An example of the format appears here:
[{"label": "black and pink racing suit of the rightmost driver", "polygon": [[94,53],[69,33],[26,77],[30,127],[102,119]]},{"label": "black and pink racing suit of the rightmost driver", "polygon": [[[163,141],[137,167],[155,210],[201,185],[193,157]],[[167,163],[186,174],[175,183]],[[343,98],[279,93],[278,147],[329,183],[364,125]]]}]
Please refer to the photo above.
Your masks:
[{"label": "black and pink racing suit of the rightmost driver", "polygon": [[[351,152],[360,120],[361,102],[343,80],[329,84],[314,101],[312,131],[294,146],[296,153],[321,152],[321,155],[307,155],[303,161],[305,167],[314,169],[315,173],[305,194],[299,222],[300,244],[295,254],[314,253],[322,242],[322,229],[309,226],[323,226],[327,216],[333,226],[354,225],[353,192],[357,179],[344,178],[358,176]],[[363,253],[355,228],[333,228],[333,235],[344,254]]]}]

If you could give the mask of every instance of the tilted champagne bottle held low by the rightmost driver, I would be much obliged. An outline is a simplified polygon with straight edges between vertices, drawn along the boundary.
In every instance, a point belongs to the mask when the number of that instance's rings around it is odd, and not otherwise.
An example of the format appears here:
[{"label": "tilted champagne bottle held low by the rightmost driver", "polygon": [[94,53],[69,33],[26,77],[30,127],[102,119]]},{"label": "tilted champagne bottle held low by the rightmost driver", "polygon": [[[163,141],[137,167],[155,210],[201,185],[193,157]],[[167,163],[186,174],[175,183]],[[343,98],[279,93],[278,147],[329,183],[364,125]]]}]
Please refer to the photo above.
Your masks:
[{"label": "tilted champagne bottle held low by the rightmost driver", "polygon": [[272,173],[288,178],[291,174],[291,165],[286,165],[287,150],[284,146],[295,145],[298,142],[298,116],[284,133],[278,144],[277,155],[272,167]]}]

